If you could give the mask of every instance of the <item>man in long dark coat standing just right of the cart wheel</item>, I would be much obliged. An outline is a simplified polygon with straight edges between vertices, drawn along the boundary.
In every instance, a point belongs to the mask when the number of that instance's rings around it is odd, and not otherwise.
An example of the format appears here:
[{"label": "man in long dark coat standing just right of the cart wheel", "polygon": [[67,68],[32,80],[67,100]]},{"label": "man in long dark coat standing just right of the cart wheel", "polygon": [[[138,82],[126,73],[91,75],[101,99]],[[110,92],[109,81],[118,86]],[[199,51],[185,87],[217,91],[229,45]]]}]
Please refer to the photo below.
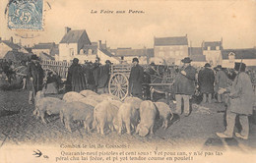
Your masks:
[{"label": "man in long dark coat standing just right of the cart wheel", "polygon": [[143,68],[139,65],[138,58],[133,58],[133,67],[129,77],[129,92],[133,96],[142,98]]}]

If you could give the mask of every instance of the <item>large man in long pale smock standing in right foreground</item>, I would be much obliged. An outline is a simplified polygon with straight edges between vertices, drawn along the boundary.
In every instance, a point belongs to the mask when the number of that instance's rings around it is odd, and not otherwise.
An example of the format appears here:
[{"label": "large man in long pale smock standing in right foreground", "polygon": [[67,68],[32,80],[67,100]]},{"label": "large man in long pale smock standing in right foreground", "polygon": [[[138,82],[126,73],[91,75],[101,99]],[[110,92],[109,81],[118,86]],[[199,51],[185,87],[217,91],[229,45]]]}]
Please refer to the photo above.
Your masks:
[{"label": "large man in long pale smock standing in right foreground", "polygon": [[224,133],[217,133],[220,137],[232,137],[236,115],[242,127],[241,133],[235,136],[247,139],[249,136],[248,116],[253,111],[253,89],[249,76],[245,73],[244,63],[235,63],[234,70],[237,74],[230,88],[229,101],[226,109],[226,129]]}]

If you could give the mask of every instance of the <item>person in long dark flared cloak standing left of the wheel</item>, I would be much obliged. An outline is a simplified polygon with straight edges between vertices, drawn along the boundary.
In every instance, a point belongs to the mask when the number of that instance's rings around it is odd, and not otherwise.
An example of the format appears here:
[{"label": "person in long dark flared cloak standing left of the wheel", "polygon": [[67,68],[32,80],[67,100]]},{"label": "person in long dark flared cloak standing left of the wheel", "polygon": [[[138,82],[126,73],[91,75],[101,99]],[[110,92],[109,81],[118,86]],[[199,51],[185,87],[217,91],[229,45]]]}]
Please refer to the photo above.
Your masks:
[{"label": "person in long dark flared cloak standing left of the wheel", "polygon": [[68,70],[67,86],[68,90],[80,92],[86,89],[86,80],[83,68],[79,63],[79,59],[74,58],[73,63]]}]

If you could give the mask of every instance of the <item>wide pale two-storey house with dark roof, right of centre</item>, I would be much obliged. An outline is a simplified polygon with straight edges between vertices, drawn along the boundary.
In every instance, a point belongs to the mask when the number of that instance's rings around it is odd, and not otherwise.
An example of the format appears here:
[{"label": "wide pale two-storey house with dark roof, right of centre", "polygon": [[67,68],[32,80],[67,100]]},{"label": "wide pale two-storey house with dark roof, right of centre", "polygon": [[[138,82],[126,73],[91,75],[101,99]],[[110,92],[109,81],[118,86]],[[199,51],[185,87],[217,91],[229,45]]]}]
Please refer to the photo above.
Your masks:
[{"label": "wide pale two-storey house with dark roof, right of centre", "polygon": [[155,57],[163,59],[166,64],[180,65],[181,60],[188,57],[188,39],[185,36],[155,37]]}]

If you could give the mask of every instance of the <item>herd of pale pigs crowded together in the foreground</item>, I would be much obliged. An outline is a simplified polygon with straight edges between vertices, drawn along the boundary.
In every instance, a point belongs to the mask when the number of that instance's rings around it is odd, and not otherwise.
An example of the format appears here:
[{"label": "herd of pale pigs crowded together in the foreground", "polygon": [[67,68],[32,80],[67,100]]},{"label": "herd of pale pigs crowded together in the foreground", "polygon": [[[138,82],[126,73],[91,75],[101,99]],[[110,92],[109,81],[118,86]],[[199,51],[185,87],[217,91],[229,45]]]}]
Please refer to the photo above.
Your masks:
[{"label": "herd of pale pigs crowded together in the foreground", "polygon": [[35,109],[33,115],[41,118],[46,124],[44,115],[59,114],[65,128],[71,132],[70,124],[80,121],[85,130],[96,129],[98,134],[104,135],[104,128],[119,134],[127,131],[131,135],[134,130],[139,136],[153,134],[156,120],[162,120],[162,128],[168,127],[173,114],[164,102],[143,101],[137,97],[126,97],[121,101],[111,94],[96,94],[92,90],[67,92],[63,99],[45,97],[43,91],[38,91],[34,98]]}]

